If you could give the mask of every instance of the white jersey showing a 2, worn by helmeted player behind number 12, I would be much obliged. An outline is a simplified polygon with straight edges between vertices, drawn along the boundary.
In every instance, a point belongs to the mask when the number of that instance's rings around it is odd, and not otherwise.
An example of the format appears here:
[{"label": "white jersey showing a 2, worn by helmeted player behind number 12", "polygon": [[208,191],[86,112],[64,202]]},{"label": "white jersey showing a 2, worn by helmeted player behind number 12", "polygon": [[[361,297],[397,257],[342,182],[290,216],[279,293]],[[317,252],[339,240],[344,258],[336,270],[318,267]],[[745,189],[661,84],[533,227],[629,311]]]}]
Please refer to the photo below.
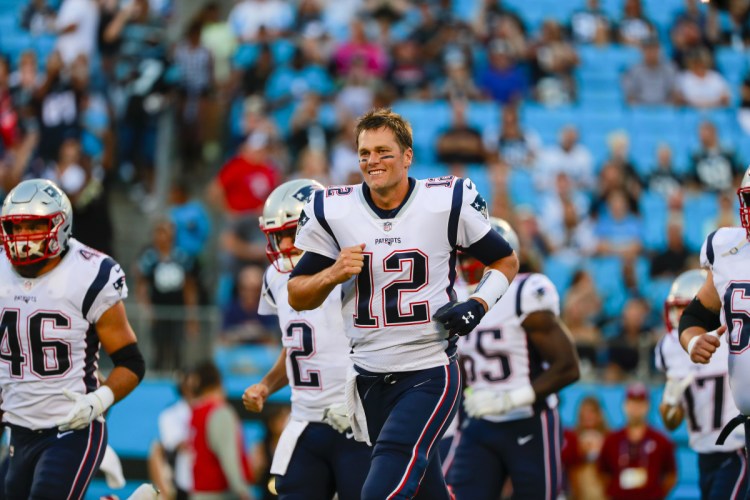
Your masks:
[{"label": "white jersey showing a 2, worn by helmeted player behind number 12", "polygon": [[351,366],[341,315],[341,287],[317,309],[298,312],[289,305],[287,281],[289,273],[268,268],[258,314],[279,316],[286,375],[292,388],[292,417],[320,422],[326,408],[344,404],[346,372]]}]

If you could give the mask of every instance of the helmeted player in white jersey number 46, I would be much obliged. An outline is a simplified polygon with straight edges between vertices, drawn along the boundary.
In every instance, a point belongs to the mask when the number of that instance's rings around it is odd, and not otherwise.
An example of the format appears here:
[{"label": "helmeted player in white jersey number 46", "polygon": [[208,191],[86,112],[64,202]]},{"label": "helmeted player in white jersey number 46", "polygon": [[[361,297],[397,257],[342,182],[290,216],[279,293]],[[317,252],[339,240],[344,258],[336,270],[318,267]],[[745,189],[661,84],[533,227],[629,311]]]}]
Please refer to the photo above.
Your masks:
[{"label": "helmeted player in white jersey number 46", "polygon": [[[11,428],[5,498],[82,498],[107,446],[102,414],[143,378],[125,274],[71,236],[68,197],[23,181],[0,211],[0,391]],[[100,346],[114,362],[100,384]]]}]

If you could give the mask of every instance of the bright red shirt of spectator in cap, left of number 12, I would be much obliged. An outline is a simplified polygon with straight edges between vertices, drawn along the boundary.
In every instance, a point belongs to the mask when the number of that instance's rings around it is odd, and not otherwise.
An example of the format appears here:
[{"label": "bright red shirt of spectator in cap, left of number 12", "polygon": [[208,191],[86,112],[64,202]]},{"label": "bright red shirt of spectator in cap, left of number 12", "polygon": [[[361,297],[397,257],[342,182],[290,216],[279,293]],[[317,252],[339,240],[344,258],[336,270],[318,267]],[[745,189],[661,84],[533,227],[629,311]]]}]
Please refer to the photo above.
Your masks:
[{"label": "bright red shirt of spectator in cap, left of number 12", "polygon": [[278,185],[279,174],[273,167],[251,163],[237,155],[221,167],[218,181],[230,211],[260,212],[266,198]]}]

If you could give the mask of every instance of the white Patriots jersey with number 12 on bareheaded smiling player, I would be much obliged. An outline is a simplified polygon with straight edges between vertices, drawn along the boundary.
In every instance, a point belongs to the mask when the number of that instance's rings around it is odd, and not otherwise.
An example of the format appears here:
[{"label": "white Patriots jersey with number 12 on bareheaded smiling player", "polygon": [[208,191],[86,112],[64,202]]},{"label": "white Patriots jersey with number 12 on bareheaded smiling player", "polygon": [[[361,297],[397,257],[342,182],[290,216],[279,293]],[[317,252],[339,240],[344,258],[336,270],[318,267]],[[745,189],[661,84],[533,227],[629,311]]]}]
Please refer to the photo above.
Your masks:
[{"label": "white Patriots jersey with number 12 on bareheaded smiling player", "polygon": [[344,284],[352,361],[383,373],[448,363],[447,333],[432,315],[453,297],[456,247],[490,231],[487,206],[469,179],[418,180],[395,217],[381,219],[362,185],[315,193],[296,245],[331,259],[365,244],[365,265]]}]

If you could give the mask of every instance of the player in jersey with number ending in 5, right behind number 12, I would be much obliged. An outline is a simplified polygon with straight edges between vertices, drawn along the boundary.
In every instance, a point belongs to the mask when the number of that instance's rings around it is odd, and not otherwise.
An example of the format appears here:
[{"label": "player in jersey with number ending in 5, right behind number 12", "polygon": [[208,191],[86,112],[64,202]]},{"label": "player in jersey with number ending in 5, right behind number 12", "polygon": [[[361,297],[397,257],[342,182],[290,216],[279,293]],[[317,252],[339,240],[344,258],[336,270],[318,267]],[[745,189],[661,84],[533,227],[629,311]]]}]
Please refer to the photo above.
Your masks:
[{"label": "player in jersey with number ending in 5, right behind number 12", "polygon": [[[518,251],[518,237],[502,219],[493,229]],[[461,269],[476,283],[471,257]],[[474,264],[474,265],[472,265]],[[468,388],[468,416],[448,471],[458,500],[500,498],[510,478],[513,498],[555,499],[560,493],[562,429],[558,391],[579,377],[578,357],[559,319],[560,299],[543,274],[519,274],[459,352]]]}]

